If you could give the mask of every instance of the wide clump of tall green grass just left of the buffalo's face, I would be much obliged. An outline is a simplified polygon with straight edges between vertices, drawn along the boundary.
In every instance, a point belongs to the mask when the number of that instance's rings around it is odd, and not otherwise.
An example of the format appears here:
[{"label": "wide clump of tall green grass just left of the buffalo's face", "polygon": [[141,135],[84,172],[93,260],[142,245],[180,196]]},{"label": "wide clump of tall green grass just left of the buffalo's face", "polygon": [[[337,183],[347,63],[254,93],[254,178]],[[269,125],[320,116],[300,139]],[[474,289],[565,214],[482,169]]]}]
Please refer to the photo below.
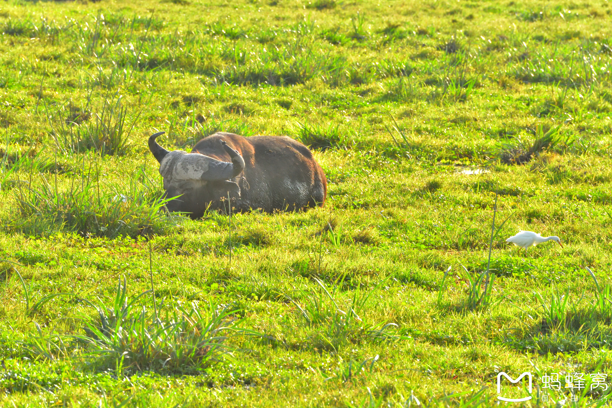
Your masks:
[{"label": "wide clump of tall green grass just left of the buffalo's face", "polygon": [[106,185],[100,191],[99,174],[72,177],[70,188],[58,190],[45,177],[13,188],[16,212],[10,230],[39,235],[67,229],[81,236],[114,238],[160,234],[181,220],[165,212],[168,199],[162,192],[140,182],[141,172],[125,185]]}]

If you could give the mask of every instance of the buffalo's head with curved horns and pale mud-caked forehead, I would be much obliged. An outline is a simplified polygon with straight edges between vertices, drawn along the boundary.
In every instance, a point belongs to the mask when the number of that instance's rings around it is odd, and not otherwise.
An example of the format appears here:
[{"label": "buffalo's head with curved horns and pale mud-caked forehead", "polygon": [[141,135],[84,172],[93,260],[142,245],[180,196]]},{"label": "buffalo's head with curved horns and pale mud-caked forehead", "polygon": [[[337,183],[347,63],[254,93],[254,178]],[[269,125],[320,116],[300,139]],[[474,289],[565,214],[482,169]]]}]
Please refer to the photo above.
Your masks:
[{"label": "buffalo's head with curved horns and pale mud-caked forehead", "polygon": [[[168,210],[190,213],[190,217],[198,218],[209,204],[216,209],[217,203],[222,202],[228,193],[232,199],[240,196],[240,187],[231,181],[244,170],[244,160],[236,150],[220,141],[223,150],[230,155],[231,163],[200,153],[170,152],[155,141],[163,133],[155,133],[149,138],[149,149],[159,161],[165,197],[173,198],[166,204]],[[224,208],[220,206],[220,209]]]}]

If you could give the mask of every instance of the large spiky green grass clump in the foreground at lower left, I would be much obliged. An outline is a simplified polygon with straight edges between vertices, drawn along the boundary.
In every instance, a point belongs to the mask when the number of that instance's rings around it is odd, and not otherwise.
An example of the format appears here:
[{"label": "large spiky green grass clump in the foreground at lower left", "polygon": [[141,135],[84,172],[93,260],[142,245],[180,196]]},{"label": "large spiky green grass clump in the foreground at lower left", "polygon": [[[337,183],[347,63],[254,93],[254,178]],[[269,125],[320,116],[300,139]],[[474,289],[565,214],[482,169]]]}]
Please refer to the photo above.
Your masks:
[{"label": "large spiky green grass clump in the foreground at lower left", "polygon": [[86,335],[75,338],[101,365],[185,372],[204,369],[228,353],[228,336],[222,334],[236,324],[233,311],[194,301],[156,319],[146,306],[135,306],[141,295],[128,302],[125,281],[120,282],[112,308],[92,304],[97,318],[83,316]]}]

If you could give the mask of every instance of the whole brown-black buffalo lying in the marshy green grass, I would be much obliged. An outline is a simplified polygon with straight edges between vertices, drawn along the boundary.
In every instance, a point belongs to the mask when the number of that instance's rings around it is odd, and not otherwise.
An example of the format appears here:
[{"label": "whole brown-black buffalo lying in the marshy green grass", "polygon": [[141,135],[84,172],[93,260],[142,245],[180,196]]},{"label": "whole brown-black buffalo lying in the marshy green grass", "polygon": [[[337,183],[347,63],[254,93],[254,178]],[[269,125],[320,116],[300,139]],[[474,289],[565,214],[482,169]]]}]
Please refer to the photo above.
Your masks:
[{"label": "whole brown-black buffalo lying in the marshy green grass", "polygon": [[327,180],[308,147],[287,136],[243,136],[215,133],[201,139],[192,152],[160,146],[149,138],[149,149],[159,161],[166,204],[170,211],[199,218],[204,211],[261,209],[294,211],[323,206]]}]

